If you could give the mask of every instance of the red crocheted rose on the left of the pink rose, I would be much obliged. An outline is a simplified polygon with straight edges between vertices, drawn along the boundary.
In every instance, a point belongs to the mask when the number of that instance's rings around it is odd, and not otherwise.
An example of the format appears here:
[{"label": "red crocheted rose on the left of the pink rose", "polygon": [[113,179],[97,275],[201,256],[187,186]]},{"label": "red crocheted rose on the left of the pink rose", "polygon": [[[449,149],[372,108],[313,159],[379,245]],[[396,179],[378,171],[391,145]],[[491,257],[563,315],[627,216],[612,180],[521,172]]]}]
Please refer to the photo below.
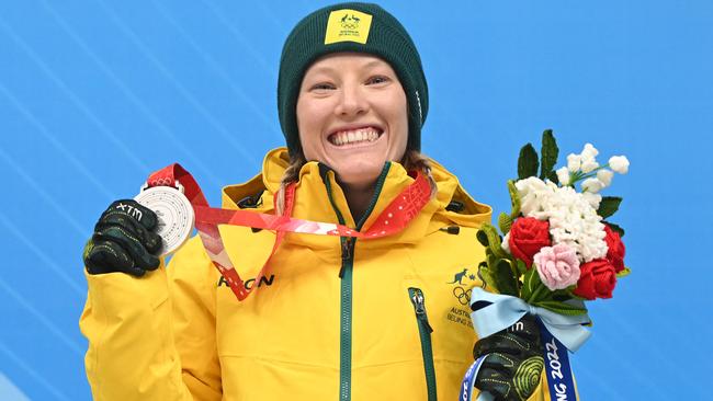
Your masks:
[{"label": "red crocheted rose on the left of the pink rose", "polygon": [[513,256],[521,259],[528,267],[532,266],[532,256],[540,252],[542,247],[550,247],[550,224],[540,221],[534,217],[516,219],[510,228],[508,241]]}]

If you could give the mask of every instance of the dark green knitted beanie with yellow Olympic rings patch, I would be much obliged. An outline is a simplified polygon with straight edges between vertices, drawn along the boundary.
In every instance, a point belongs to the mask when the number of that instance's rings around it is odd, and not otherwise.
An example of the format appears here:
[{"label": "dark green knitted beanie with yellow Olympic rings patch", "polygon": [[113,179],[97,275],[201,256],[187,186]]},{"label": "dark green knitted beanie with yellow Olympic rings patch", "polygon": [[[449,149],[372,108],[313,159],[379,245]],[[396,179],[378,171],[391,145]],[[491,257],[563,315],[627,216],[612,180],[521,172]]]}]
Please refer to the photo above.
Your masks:
[{"label": "dark green knitted beanie with yellow Olympic rings patch", "polygon": [[319,57],[340,51],[366,53],[388,62],[408,102],[408,149],[421,149],[428,113],[428,85],[421,58],[404,26],[376,4],[348,2],[319,9],[292,30],[280,58],[278,112],[291,154],[301,150],[297,96],[307,68]]}]

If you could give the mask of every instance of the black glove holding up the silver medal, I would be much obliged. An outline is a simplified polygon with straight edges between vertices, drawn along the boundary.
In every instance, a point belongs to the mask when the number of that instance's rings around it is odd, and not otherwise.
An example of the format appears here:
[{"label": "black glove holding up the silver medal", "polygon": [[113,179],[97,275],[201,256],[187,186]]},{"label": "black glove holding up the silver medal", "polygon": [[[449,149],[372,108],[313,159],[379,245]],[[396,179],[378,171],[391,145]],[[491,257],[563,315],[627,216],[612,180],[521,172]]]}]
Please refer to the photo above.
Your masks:
[{"label": "black glove holding up the silver medal", "polygon": [[123,272],[140,277],[156,270],[161,237],[152,230],[156,214],[134,199],[112,203],[94,226],[83,252],[89,274]]}]

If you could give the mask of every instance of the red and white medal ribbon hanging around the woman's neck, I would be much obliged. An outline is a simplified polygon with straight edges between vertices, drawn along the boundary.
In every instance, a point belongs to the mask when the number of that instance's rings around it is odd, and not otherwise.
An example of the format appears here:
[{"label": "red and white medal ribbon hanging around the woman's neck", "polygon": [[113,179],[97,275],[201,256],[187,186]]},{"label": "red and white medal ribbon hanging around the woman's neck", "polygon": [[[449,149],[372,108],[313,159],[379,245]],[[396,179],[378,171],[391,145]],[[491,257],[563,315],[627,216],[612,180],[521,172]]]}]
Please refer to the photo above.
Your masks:
[{"label": "red and white medal ribbon hanging around the woman's neck", "polygon": [[[151,173],[147,180],[147,185],[149,187],[161,185],[176,187],[177,183],[183,185],[184,195],[191,202],[195,211],[195,228],[199,231],[203,247],[213,261],[213,264],[228,282],[230,289],[238,297],[238,300],[244,300],[257,286],[251,288],[246,287],[245,282],[235,270],[225,250],[223,238],[218,231],[218,225],[244,226],[276,231],[272,252],[270,252],[270,256],[268,256],[260,273],[254,278],[254,283],[260,283],[260,279],[269,268],[270,260],[287,232],[377,239],[401,231],[429,202],[431,193],[430,184],[423,174],[420,172],[409,172],[409,175],[415,179],[414,182],[386,206],[384,211],[376,217],[376,220],[370,229],[364,232],[356,231],[343,225],[293,218],[292,210],[295,203],[295,183],[285,187],[285,207],[282,216],[210,207],[195,179],[178,163]],[[275,196],[275,202],[276,198]]]}]

